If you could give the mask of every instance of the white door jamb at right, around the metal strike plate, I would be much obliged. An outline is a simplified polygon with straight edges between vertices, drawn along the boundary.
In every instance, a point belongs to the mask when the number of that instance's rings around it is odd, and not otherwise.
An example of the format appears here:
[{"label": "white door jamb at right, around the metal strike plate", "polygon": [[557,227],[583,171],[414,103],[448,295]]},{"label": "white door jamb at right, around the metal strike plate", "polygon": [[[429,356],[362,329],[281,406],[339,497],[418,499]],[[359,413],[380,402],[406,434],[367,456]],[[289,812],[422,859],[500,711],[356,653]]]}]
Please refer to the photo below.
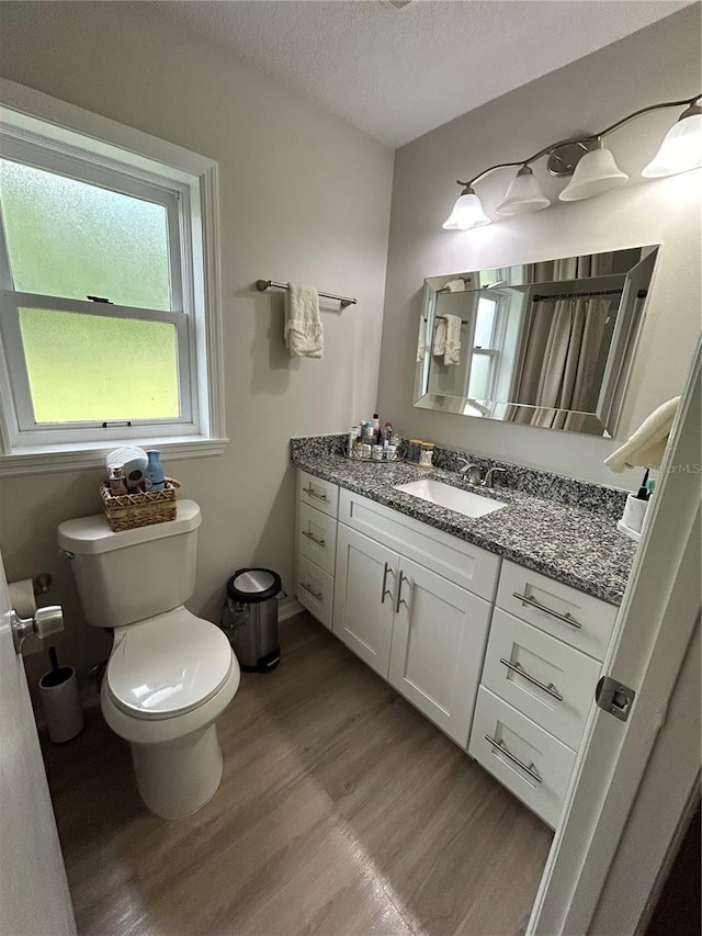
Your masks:
[{"label": "white door jamb at right, around the metal strike plate", "polygon": [[[683,712],[676,722],[668,710],[700,625],[700,404],[698,346],[663,481],[603,665],[603,672],[633,688],[636,698],[626,721],[597,707],[590,710],[529,936],[597,932],[596,914],[612,918],[613,902],[619,904],[616,932],[639,932],[661,865],[647,858],[654,853],[665,855],[680,812],[663,822],[659,819],[670,799],[684,801],[699,782],[695,712]],[[677,738],[678,749],[668,742],[675,756],[667,758],[661,770],[655,755],[664,734]],[[664,792],[657,810],[645,814],[633,807],[654,768]],[[637,853],[620,849],[625,834],[642,843]],[[612,877],[618,880],[616,891],[608,890]]]}]

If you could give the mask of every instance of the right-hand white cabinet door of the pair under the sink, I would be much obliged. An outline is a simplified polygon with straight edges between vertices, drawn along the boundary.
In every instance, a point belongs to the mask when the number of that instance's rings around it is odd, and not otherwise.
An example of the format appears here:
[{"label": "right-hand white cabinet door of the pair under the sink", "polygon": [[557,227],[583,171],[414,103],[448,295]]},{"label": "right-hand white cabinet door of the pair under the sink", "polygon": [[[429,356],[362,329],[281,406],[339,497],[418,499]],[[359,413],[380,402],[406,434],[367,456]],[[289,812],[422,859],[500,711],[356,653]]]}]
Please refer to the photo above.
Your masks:
[{"label": "right-hand white cabinet door of the pair under the sink", "polygon": [[490,605],[400,559],[389,681],[462,747],[468,743]]}]

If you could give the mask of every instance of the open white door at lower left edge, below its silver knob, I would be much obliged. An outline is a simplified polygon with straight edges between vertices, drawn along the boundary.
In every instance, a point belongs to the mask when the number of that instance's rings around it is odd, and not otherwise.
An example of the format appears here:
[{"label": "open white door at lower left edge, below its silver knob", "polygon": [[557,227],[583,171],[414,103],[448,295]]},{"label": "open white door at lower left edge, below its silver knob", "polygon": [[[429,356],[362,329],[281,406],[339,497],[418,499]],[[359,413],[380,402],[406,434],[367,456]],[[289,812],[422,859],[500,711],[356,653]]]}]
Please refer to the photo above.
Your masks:
[{"label": "open white door at lower left edge, below its silver knob", "polygon": [[10,610],[0,556],[0,928],[64,936],[76,922]]}]

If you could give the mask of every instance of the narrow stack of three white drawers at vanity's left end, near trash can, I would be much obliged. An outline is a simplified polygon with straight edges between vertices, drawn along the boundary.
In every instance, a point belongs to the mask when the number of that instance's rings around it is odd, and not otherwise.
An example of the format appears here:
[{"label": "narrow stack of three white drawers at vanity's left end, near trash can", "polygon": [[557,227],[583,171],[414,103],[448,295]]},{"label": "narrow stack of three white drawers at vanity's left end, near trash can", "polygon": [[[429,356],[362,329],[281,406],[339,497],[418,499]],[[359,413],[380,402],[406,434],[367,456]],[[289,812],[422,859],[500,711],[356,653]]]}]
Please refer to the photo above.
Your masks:
[{"label": "narrow stack of three white drawers at vanity's left end, near trash can", "polygon": [[337,554],[339,488],[306,471],[297,472],[297,600],[331,629]]}]

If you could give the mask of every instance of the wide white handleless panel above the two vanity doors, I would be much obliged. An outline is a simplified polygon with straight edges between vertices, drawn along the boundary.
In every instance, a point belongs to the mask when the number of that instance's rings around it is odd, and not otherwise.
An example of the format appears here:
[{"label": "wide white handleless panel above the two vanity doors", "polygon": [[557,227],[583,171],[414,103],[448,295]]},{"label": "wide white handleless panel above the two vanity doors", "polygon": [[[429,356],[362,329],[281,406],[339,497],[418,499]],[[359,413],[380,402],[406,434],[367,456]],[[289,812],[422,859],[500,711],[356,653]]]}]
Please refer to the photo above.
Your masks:
[{"label": "wide white handleless panel above the two vanity doors", "polygon": [[491,601],[500,559],[443,530],[341,488],[339,520]]}]

